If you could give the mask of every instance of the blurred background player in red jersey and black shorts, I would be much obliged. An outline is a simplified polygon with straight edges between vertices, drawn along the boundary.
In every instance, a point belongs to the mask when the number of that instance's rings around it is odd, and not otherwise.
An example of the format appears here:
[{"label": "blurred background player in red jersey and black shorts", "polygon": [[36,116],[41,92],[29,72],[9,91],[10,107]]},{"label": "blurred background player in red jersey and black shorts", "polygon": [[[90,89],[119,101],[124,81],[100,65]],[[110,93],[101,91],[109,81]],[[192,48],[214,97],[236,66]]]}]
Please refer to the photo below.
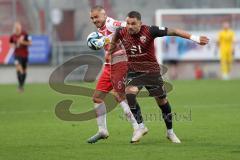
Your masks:
[{"label": "blurred background player in red jersey and black shorts", "polygon": [[27,75],[28,47],[32,44],[31,37],[22,29],[19,22],[15,22],[13,34],[10,37],[11,48],[14,50],[15,66],[18,78],[18,89],[23,92]]}]

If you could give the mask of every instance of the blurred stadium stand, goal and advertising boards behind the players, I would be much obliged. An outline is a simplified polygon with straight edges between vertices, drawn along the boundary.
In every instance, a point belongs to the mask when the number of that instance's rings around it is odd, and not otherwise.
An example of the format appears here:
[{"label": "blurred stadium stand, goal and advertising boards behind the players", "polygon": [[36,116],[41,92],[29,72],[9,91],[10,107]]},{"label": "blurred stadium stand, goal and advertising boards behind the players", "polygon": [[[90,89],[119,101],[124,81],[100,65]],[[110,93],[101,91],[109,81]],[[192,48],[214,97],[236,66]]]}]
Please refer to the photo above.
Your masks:
[{"label": "blurred stadium stand, goal and advertising boards behind the players", "polygon": [[230,75],[240,78],[240,0],[0,0],[0,83],[16,83],[9,52],[15,21],[22,23],[33,40],[27,82],[48,82],[57,66],[77,55],[103,58],[103,51],[91,51],[86,45],[87,35],[96,30],[89,18],[94,5],[104,6],[108,16],[118,20],[137,10],[147,25],[181,28],[210,37],[210,44],[202,48],[177,38],[156,42],[158,59],[168,66],[169,79],[221,78],[216,42],[222,23],[228,21],[236,33]]}]

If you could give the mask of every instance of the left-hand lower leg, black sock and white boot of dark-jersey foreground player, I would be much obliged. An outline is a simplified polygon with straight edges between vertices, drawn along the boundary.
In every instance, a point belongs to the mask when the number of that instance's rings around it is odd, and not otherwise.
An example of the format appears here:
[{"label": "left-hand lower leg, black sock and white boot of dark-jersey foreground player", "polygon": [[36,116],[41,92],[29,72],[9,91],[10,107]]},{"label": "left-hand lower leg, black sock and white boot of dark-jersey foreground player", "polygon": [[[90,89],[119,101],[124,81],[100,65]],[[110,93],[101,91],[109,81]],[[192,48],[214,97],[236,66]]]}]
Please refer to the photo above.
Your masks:
[{"label": "left-hand lower leg, black sock and white boot of dark-jersey foreground player", "polygon": [[148,129],[143,124],[141,110],[136,100],[136,96],[139,92],[138,87],[127,86],[125,91],[126,91],[126,98],[127,98],[129,107],[131,109],[131,112],[133,113],[135,119],[139,124],[139,128],[134,131],[133,137],[131,139],[131,143],[136,143],[136,142],[139,142],[140,139],[148,133]]}]

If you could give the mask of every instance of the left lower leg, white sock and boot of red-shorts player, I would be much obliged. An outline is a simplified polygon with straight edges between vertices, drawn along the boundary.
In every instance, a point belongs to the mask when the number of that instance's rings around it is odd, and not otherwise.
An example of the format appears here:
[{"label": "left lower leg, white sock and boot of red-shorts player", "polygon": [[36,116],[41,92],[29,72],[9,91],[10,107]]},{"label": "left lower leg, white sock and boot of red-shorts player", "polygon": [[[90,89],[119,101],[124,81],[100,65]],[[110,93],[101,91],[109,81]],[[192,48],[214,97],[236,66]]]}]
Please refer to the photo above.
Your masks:
[{"label": "left lower leg, white sock and boot of red-shorts player", "polygon": [[107,130],[107,113],[104,98],[107,93],[96,90],[93,94],[94,108],[97,115],[98,132],[87,140],[88,143],[96,143],[98,140],[106,139],[109,136]]}]

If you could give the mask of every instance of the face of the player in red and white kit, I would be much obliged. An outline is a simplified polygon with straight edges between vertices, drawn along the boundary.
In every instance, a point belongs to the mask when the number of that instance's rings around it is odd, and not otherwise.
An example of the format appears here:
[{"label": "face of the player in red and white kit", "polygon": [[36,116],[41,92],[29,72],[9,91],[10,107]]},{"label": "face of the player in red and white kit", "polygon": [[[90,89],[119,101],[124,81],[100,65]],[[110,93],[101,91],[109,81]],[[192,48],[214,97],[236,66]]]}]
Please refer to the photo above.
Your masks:
[{"label": "face of the player in red and white kit", "polygon": [[93,24],[97,27],[97,28],[101,28],[104,26],[105,22],[106,22],[106,14],[105,11],[101,10],[93,10],[90,13],[90,18],[93,22]]}]

